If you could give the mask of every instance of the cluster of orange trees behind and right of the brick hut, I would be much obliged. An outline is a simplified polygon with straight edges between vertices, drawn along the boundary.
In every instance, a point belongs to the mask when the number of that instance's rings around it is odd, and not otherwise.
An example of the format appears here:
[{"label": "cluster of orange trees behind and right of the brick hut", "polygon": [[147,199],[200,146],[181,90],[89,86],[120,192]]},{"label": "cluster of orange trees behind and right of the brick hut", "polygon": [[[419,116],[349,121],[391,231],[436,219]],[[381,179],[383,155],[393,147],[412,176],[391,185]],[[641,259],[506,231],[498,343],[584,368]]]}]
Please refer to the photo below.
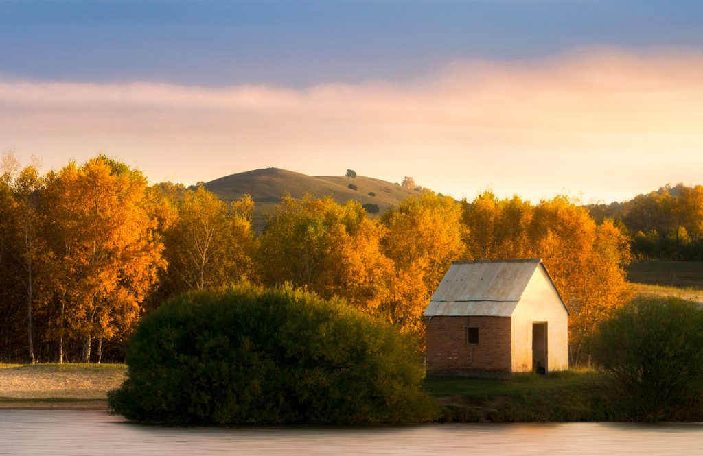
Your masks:
[{"label": "cluster of orange trees behind and right of the brick hut", "polygon": [[588,340],[598,321],[630,296],[624,266],[629,239],[612,221],[600,225],[566,197],[536,206],[519,197],[498,200],[490,192],[463,203],[470,259],[541,257],[571,313],[572,363],[588,360]]}]

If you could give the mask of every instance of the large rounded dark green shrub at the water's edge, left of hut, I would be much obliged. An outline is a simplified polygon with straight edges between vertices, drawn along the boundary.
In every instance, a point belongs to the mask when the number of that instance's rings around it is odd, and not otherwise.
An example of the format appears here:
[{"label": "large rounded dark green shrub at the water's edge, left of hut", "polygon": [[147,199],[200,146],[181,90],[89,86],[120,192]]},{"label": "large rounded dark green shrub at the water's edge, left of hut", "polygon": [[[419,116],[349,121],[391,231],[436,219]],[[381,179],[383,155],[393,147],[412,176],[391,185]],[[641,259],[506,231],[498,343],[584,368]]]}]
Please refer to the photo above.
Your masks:
[{"label": "large rounded dark green shrub at the water's edge, left of hut", "polygon": [[108,403],[140,422],[420,422],[436,406],[414,344],[300,290],[192,292],[144,318]]}]

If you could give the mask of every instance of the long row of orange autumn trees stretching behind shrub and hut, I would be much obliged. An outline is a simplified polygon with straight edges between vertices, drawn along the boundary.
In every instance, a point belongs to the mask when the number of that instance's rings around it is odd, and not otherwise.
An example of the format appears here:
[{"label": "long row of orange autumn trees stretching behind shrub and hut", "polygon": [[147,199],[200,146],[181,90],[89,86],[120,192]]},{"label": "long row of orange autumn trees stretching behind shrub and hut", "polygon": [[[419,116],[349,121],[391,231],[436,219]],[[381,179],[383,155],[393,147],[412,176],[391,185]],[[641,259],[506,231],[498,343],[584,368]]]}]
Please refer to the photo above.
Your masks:
[{"label": "long row of orange autumn trees stretching behind shrub and hut", "polygon": [[572,360],[626,300],[628,239],[564,197],[533,205],[491,193],[456,202],[424,190],[380,219],[357,202],[283,202],[260,235],[250,197],[148,186],[97,157],[41,176],[5,157],[0,183],[0,356],[122,359],[143,313],[233,282],[340,297],[424,340],[422,312],[451,261],[541,257],[572,312]]}]

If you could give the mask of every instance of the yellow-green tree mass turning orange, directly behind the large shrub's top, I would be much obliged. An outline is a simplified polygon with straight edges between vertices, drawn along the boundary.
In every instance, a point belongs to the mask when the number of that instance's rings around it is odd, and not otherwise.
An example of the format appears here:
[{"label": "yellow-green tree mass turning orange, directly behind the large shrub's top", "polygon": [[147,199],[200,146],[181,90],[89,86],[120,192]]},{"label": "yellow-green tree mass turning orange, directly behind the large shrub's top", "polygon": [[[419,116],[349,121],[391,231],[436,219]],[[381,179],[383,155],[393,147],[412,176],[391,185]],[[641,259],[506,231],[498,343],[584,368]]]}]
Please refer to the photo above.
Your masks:
[{"label": "yellow-green tree mass turning orange, directly behind the large shrub's top", "polygon": [[358,202],[284,195],[259,237],[262,281],[270,286],[290,282],[373,313],[392,270],[379,251],[383,232]]}]

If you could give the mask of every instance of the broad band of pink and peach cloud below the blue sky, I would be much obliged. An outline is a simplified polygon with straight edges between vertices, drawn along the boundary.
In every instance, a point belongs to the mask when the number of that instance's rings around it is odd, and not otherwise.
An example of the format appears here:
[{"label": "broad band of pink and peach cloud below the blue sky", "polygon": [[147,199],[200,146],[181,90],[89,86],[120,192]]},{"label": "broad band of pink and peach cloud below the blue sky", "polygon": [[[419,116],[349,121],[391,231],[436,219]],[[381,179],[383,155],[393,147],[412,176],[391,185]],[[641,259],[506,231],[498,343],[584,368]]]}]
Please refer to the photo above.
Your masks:
[{"label": "broad band of pink and peach cloud below the blue sky", "polygon": [[702,57],[600,48],[307,89],[0,81],[0,148],[47,167],[105,151],[153,181],[352,167],[456,197],[622,199],[699,183]]}]

